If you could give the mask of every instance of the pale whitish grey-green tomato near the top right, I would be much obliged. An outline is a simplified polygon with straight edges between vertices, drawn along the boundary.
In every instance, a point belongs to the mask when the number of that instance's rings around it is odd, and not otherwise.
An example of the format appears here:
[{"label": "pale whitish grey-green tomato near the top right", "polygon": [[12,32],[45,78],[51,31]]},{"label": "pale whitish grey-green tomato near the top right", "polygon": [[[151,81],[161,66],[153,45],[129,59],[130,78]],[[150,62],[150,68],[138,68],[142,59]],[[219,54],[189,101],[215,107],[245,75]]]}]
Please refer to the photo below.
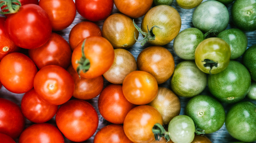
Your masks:
[{"label": "pale whitish grey-green tomato near the top right", "polygon": [[229,22],[226,6],[215,0],[201,3],[193,12],[193,25],[204,33],[214,30],[215,34],[224,31]]}]

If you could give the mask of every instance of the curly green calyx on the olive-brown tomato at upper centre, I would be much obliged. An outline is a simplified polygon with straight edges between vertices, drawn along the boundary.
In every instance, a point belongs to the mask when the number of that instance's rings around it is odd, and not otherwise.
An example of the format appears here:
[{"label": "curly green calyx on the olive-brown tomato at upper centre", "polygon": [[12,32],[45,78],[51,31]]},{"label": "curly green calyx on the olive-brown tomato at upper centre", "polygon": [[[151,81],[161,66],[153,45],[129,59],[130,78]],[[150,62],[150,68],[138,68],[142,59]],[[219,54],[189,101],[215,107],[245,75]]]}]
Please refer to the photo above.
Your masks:
[{"label": "curly green calyx on the olive-brown tomato at upper centre", "polygon": [[[134,32],[134,39],[135,39],[137,42],[139,42],[141,46],[143,46],[147,41],[153,41],[153,40],[155,40],[155,39],[156,39],[156,35],[153,33],[153,29],[154,29],[155,27],[160,28],[160,27],[158,27],[157,25],[154,25],[153,27],[150,28],[150,30],[148,29],[148,33],[146,33],[146,32],[143,32],[143,31],[139,28],[139,26],[135,24],[134,20],[133,20],[133,25],[134,25],[135,28],[139,31],[139,33],[141,33],[142,35],[145,36],[142,40],[139,41],[139,40],[136,39],[136,35],[135,35],[135,32]],[[147,28],[148,28],[148,26],[147,26]],[[160,28],[160,29],[162,29],[162,28]]]}]

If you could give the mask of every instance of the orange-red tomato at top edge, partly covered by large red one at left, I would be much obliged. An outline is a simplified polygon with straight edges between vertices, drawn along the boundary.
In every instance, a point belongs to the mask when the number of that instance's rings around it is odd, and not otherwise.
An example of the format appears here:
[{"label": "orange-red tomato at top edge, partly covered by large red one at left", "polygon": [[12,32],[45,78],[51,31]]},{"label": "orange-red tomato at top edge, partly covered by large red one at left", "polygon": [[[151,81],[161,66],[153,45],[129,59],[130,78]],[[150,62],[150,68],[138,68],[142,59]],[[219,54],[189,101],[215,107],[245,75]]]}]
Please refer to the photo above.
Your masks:
[{"label": "orange-red tomato at top edge, partly covered by large red one at left", "polygon": [[39,6],[49,15],[53,31],[67,28],[75,19],[73,0],[40,0]]}]

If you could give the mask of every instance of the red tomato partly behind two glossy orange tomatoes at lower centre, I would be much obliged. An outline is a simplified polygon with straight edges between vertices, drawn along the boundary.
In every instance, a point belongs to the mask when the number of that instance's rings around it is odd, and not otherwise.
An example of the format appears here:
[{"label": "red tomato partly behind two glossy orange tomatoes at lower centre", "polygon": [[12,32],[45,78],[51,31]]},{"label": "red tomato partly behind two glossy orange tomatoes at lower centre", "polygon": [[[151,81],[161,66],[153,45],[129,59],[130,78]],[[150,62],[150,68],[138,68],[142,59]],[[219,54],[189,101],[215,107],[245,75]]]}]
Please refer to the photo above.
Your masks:
[{"label": "red tomato partly behind two glossy orange tomatoes at lower centre", "polygon": [[127,113],[135,106],[124,97],[122,85],[108,85],[98,98],[99,113],[114,124],[122,124]]}]

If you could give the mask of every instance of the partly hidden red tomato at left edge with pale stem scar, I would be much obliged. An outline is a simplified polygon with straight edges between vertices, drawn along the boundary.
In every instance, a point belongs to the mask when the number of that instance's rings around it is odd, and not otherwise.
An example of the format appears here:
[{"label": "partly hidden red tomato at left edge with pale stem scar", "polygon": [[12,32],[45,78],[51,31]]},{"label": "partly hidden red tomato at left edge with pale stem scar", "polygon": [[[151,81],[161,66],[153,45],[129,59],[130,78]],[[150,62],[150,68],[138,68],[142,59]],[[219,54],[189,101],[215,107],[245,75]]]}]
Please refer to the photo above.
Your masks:
[{"label": "partly hidden red tomato at left edge with pale stem scar", "polygon": [[0,60],[9,53],[20,51],[20,47],[16,46],[5,33],[5,20],[5,17],[0,17]]}]

